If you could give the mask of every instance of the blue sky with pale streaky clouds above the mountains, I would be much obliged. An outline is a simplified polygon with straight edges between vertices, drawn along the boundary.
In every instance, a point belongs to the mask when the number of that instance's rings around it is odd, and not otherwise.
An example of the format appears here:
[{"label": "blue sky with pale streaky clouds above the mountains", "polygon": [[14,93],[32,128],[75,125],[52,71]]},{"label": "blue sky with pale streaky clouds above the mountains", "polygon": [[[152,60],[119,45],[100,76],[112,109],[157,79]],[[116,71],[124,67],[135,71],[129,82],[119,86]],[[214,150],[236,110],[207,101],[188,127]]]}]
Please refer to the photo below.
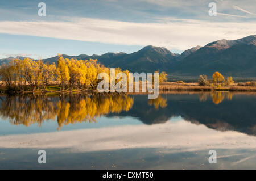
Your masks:
[{"label": "blue sky with pale streaky clouds above the mountains", "polygon": [[[38,15],[40,2],[46,16]],[[1,0],[0,58],[132,53],[146,45],[182,53],[255,35],[255,6],[255,0]]]}]

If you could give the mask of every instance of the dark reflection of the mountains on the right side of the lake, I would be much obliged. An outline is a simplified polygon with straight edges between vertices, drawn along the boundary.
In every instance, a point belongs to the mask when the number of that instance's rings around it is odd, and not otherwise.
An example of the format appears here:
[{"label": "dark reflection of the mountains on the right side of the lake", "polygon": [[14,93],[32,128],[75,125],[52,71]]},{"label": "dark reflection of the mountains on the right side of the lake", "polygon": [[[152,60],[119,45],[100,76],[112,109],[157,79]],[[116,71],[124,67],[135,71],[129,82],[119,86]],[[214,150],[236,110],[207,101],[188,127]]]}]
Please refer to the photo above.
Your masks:
[{"label": "dark reflection of the mountains on the right side of the lake", "polygon": [[192,123],[220,131],[233,130],[256,135],[255,94],[204,92],[161,96],[166,99],[165,108],[155,109],[147,104],[146,96],[137,95],[133,108],[118,115],[138,117],[144,124],[164,123],[171,117],[181,116]]}]

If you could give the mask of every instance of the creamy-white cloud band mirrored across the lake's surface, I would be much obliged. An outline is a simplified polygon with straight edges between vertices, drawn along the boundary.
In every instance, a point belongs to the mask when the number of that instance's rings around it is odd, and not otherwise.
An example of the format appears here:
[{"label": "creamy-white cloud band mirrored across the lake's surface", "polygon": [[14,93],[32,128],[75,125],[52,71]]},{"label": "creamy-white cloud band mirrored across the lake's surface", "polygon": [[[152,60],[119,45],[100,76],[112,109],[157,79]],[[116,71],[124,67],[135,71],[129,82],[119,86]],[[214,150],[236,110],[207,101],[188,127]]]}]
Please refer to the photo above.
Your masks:
[{"label": "creamy-white cloud band mirrored across the lake's surface", "polygon": [[130,148],[164,148],[166,153],[256,148],[254,136],[219,132],[187,121],[1,136],[0,142],[2,148],[66,148],[75,153]]}]

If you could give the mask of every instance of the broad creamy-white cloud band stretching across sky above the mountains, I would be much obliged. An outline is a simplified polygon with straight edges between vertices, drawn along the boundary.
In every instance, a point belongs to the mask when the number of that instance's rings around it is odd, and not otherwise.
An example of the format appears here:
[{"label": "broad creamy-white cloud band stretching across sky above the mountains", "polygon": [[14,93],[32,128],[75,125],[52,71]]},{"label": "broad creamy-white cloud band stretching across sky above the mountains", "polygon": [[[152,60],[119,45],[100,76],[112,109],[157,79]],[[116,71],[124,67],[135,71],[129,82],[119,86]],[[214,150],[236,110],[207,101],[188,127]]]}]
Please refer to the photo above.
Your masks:
[{"label": "broad creamy-white cloud band stretching across sky above the mountains", "polygon": [[255,35],[256,23],[210,22],[167,17],[156,23],[93,18],[64,18],[56,22],[0,22],[0,33],[53,37],[119,45],[156,45],[185,50],[218,39]]}]

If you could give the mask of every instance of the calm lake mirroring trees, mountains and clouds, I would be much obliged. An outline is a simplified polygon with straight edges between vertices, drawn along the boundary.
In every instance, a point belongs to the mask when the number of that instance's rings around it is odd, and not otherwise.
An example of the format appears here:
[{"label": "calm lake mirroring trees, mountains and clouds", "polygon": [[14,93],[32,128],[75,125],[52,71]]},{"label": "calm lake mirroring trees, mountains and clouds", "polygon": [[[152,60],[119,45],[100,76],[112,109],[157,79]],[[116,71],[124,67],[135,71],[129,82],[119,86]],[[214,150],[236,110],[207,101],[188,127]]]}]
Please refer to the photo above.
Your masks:
[{"label": "calm lake mirroring trees, mountains and clouds", "polygon": [[2,95],[0,169],[256,169],[255,110],[252,93]]}]

